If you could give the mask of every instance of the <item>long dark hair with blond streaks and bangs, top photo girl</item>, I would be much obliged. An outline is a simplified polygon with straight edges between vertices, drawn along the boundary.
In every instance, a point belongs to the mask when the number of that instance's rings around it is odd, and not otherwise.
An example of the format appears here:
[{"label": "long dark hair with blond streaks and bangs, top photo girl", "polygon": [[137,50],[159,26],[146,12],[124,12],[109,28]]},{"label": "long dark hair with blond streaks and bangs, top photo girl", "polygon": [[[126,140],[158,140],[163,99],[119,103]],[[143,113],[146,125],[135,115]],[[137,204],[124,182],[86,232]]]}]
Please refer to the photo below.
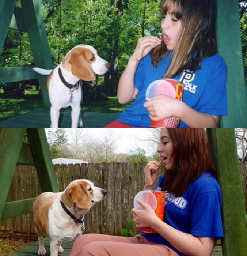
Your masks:
[{"label": "long dark hair with blond streaks and bangs, top photo girl", "polygon": [[[216,0],[161,0],[162,15],[171,6],[172,14],[181,20],[182,27],[173,49],[170,64],[163,77],[171,78],[183,70],[196,71],[206,56],[217,52],[216,48]],[[161,37],[161,45],[151,51],[152,65],[163,59],[168,50]]]}]

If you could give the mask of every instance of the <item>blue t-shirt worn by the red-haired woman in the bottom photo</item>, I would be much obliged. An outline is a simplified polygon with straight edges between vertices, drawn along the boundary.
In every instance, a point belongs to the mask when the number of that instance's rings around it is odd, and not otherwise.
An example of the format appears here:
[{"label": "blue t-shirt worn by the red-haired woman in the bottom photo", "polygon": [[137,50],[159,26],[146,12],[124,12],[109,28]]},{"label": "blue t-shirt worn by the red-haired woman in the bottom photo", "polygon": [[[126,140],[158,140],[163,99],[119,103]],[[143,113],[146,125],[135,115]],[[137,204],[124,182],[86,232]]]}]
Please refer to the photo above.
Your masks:
[{"label": "blue t-shirt worn by the red-haired woman in the bottom photo", "polygon": [[[155,190],[162,190],[164,175],[161,174]],[[221,191],[217,180],[205,171],[190,183],[179,197],[166,193],[163,221],[182,232],[201,237],[223,237],[221,221]],[[163,244],[178,253],[160,234],[141,232],[147,240]]]}]

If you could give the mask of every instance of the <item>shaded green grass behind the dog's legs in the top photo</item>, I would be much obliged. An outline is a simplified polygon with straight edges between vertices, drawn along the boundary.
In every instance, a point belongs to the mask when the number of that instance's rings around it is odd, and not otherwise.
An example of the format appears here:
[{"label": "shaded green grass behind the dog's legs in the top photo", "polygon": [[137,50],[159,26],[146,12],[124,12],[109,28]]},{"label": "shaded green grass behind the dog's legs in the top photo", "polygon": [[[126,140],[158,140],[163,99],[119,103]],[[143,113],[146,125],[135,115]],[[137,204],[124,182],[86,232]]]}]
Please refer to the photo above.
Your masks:
[{"label": "shaded green grass behind the dog's legs in the top photo", "polygon": [[[39,99],[38,91],[33,86],[31,89],[25,90],[25,95],[21,99],[3,98],[3,94],[0,93],[0,106],[0,121],[3,121],[30,110],[42,108],[43,102]],[[120,113],[125,107],[126,105],[118,103],[117,97],[108,97],[106,101],[83,102],[81,109],[82,111]]]}]

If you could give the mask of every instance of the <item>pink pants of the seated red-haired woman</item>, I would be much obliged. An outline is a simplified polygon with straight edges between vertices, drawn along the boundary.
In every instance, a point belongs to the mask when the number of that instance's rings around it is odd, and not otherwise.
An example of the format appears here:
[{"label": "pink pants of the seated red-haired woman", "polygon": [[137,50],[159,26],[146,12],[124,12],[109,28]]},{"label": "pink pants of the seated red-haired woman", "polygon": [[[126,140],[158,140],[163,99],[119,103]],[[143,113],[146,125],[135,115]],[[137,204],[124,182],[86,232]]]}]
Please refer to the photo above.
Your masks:
[{"label": "pink pants of the seated red-haired woman", "polygon": [[135,237],[85,234],[76,238],[70,256],[178,256],[171,248]]}]

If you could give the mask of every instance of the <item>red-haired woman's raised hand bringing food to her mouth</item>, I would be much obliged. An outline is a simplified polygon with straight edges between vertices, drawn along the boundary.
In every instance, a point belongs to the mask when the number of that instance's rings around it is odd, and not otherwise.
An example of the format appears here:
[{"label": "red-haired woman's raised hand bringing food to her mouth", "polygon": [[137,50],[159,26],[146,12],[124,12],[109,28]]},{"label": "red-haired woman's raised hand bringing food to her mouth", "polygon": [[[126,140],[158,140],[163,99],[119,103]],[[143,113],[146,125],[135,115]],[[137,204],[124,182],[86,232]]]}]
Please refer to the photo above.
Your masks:
[{"label": "red-haired woman's raised hand bringing food to her mouth", "polygon": [[150,161],[144,168],[144,189],[152,189],[153,184],[157,180],[157,172],[159,169],[160,163],[156,160]]}]

